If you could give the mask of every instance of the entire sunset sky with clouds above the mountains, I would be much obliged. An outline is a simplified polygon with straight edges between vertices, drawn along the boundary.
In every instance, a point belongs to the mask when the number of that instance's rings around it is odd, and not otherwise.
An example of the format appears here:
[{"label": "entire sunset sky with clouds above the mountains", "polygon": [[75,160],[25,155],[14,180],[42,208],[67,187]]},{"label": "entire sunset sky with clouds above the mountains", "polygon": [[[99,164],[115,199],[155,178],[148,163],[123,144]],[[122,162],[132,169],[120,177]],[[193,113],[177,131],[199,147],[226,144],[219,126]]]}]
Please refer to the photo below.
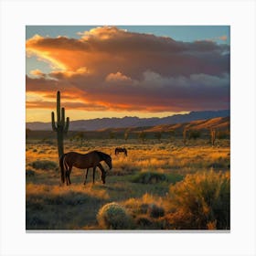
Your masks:
[{"label": "entire sunset sky with clouds above the mountains", "polygon": [[227,26],[27,26],[27,122],[229,109]]}]

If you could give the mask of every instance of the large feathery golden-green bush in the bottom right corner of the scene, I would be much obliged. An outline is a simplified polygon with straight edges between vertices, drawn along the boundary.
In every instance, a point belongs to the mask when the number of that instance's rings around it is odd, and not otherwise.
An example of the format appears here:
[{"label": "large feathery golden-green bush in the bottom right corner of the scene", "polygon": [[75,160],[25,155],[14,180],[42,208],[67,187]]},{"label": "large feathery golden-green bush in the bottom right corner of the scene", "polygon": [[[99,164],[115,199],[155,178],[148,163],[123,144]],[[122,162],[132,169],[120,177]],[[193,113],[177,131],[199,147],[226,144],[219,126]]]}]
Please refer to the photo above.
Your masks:
[{"label": "large feathery golden-green bush in the bottom right corner of the scene", "polygon": [[196,173],[170,187],[175,229],[229,229],[229,173]]}]

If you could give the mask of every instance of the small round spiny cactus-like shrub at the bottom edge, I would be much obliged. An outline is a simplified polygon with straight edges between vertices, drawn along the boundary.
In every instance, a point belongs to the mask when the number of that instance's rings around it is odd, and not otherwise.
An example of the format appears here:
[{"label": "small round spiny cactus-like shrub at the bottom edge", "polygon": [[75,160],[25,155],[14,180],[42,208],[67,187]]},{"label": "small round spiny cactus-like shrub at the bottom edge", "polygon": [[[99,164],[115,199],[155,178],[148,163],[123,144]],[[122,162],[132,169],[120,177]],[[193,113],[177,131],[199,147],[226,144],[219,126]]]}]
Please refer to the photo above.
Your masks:
[{"label": "small round spiny cactus-like shrub at the bottom edge", "polygon": [[132,219],[123,206],[117,203],[104,205],[97,215],[102,229],[131,229]]}]

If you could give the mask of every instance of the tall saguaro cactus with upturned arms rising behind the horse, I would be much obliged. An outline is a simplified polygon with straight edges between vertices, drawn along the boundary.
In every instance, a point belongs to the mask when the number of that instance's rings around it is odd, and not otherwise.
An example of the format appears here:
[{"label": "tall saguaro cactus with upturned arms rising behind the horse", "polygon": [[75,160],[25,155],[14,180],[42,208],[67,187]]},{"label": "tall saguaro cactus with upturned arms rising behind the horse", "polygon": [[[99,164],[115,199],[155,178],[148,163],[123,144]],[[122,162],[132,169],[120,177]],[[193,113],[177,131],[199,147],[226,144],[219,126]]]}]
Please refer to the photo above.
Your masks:
[{"label": "tall saguaro cactus with upturned arms rising behind the horse", "polygon": [[57,123],[55,123],[54,112],[51,112],[51,126],[54,132],[57,132],[58,153],[59,157],[64,154],[63,139],[64,134],[68,133],[69,117],[65,123],[65,109],[61,108],[60,111],[60,92],[57,92]]}]

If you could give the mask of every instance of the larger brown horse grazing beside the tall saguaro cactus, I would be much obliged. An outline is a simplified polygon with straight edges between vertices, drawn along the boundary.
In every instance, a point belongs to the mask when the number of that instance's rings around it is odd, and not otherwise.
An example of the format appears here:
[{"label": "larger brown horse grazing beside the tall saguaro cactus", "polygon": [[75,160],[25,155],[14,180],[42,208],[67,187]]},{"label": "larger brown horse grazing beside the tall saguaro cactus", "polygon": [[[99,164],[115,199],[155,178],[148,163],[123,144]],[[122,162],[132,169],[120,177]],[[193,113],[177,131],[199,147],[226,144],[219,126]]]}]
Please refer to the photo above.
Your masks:
[{"label": "larger brown horse grazing beside the tall saguaro cactus", "polygon": [[75,166],[79,169],[87,169],[87,174],[85,176],[84,184],[86,182],[86,178],[88,175],[89,168],[93,168],[93,183],[95,179],[95,170],[96,167],[101,169],[101,181],[104,184],[106,178],[106,171],[103,169],[101,165],[101,161],[104,161],[110,169],[112,169],[112,157],[100,151],[91,151],[87,154],[80,154],[77,152],[69,152],[63,154],[59,157],[59,167],[60,167],[60,174],[61,174],[61,181],[62,183],[66,183],[67,186],[71,184],[70,181],[70,173],[72,167]]}]

